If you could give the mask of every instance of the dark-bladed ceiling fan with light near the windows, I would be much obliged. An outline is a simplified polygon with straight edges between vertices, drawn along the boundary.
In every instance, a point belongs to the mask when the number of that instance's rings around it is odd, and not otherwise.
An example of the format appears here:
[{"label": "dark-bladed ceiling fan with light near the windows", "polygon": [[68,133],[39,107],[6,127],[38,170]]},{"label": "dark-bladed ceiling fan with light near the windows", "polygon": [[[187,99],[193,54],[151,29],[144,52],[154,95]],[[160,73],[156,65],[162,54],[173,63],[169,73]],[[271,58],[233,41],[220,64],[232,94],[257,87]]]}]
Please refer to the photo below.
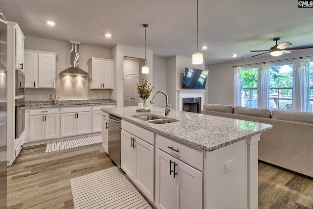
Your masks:
[{"label": "dark-bladed ceiling fan with light near the windows", "polygon": [[290,47],[292,44],[289,42],[283,42],[280,45],[277,44],[277,41],[279,41],[280,38],[273,38],[273,41],[276,41],[276,45],[270,47],[270,49],[268,50],[249,50],[249,52],[263,52],[266,51],[265,53],[261,53],[261,54],[257,54],[257,55],[253,55],[252,57],[256,57],[262,54],[266,54],[268,52],[270,52],[270,55],[272,56],[279,56],[279,55],[285,55],[288,53],[291,53],[291,51],[287,51],[284,49],[288,49],[288,50],[297,50],[297,49],[306,49],[306,48],[313,48],[313,45],[304,45],[304,46],[293,46]]}]

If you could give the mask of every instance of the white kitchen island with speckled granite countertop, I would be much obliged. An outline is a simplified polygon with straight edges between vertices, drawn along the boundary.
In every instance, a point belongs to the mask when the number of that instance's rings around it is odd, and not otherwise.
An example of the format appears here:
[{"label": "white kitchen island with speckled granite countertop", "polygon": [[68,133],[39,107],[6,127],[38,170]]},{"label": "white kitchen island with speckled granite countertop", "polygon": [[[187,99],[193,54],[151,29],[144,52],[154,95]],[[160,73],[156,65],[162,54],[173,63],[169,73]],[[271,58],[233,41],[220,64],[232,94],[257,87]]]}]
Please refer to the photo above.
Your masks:
[{"label": "white kitchen island with speckled granite countertop", "polygon": [[[168,117],[175,122],[155,124],[134,116],[167,118],[164,116],[164,108],[153,107],[149,113],[136,112],[135,108],[137,107],[102,110],[122,119],[122,169],[123,155],[127,154],[123,152],[123,139],[127,138],[127,134],[131,134],[133,149],[135,146],[138,148],[135,141],[147,142],[147,145],[153,147],[154,150],[150,148],[154,155],[154,165],[151,167],[153,188],[148,191],[142,184],[136,184],[135,177],[130,179],[157,208],[188,208],[188,202],[191,202],[193,208],[257,209],[258,140],[260,134],[270,129],[271,125],[175,110]],[[152,140],[150,133],[153,134]],[[174,177],[168,181],[164,180],[167,177],[163,178],[161,172],[167,157],[169,166],[166,165],[166,168],[169,168],[168,173]],[[171,170],[173,166],[174,175]],[[195,175],[192,172],[184,175],[188,172],[181,170],[183,166],[189,166],[188,169],[193,169]],[[138,167],[140,166],[135,166],[136,172],[139,172]],[[132,175],[125,172],[128,176]],[[149,173],[149,170],[146,172]],[[197,175],[201,181],[195,181]],[[140,174],[135,173],[134,176]],[[173,202],[168,198],[170,194],[163,194],[171,190],[168,185],[171,181],[176,185],[173,189]],[[197,185],[200,182],[199,189]],[[166,188],[163,188],[164,184]]]}]

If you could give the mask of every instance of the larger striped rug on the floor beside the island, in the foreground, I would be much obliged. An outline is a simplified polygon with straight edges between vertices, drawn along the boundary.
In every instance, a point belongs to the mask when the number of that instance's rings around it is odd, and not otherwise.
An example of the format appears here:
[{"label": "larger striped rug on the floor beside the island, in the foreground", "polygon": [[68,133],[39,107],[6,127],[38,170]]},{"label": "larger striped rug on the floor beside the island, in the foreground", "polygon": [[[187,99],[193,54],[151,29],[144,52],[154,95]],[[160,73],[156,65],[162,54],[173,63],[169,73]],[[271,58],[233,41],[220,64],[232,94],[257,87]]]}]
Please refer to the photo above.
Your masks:
[{"label": "larger striped rug on the floor beside the island, in the foreground", "polygon": [[151,209],[116,167],[71,179],[70,185],[75,209]]}]

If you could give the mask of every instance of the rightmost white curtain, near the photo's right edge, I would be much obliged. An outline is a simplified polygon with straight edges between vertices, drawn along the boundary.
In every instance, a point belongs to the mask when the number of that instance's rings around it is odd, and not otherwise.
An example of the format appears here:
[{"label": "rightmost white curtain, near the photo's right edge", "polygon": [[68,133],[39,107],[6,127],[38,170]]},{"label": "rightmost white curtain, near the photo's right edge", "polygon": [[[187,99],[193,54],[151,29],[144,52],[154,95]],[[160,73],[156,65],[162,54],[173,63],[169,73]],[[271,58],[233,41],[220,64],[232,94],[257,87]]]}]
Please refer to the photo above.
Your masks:
[{"label": "rightmost white curtain, near the photo's right edge", "polygon": [[310,59],[293,60],[292,109],[310,112]]}]

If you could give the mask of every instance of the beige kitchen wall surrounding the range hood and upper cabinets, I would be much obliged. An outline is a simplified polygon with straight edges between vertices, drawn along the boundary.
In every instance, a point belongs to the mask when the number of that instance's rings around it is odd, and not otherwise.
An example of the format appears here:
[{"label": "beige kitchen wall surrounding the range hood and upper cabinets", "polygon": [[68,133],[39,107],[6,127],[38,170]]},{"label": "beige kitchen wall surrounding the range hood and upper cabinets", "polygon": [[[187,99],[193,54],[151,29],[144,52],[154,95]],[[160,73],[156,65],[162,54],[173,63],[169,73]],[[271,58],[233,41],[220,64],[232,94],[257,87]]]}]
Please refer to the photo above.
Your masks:
[{"label": "beige kitchen wall surrounding the range hood and upper cabinets", "polygon": [[[89,77],[59,76],[69,67],[69,42],[62,42],[33,36],[25,36],[25,49],[56,52],[56,89],[26,89],[25,100],[51,100],[49,93],[58,93],[59,100],[67,99],[110,99],[112,90],[90,90]],[[79,67],[91,74],[90,57],[111,58],[111,50],[96,46],[79,45]],[[102,93],[102,97],[100,97]]]}]

